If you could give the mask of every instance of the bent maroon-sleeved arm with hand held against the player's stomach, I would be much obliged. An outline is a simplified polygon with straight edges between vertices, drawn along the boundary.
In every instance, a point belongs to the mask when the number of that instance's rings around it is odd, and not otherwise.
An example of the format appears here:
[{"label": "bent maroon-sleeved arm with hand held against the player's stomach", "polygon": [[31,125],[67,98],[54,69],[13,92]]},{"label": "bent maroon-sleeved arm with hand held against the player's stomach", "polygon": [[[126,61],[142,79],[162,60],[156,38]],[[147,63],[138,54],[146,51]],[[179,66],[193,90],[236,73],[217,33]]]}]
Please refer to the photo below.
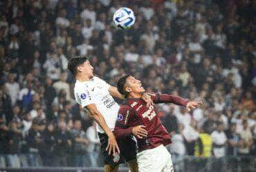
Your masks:
[{"label": "bent maroon-sleeved arm with hand held against the player's stomach", "polygon": [[118,120],[116,120],[116,126],[113,131],[116,138],[125,138],[131,134],[134,134],[137,138],[147,137],[147,131],[143,129],[145,126],[131,126],[129,120],[133,115],[133,109],[125,106],[120,107],[120,110],[118,111]]}]

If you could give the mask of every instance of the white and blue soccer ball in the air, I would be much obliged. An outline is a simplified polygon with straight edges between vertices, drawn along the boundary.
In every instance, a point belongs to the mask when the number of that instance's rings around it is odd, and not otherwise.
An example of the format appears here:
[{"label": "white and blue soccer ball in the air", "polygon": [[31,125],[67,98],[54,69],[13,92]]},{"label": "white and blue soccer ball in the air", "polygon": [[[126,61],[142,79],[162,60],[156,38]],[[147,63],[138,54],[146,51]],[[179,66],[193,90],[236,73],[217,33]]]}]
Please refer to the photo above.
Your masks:
[{"label": "white and blue soccer ball in the air", "polygon": [[134,22],[134,12],[130,8],[119,8],[113,14],[113,24],[116,26],[116,28],[127,30],[134,25]]}]

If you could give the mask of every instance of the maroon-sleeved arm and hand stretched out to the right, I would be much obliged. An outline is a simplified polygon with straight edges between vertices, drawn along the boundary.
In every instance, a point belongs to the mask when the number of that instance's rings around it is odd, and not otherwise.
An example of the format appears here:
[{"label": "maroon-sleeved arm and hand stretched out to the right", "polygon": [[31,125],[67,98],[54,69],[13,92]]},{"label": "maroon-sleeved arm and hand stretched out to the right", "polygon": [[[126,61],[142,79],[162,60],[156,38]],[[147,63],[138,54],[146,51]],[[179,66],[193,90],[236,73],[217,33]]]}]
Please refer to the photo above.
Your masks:
[{"label": "maroon-sleeved arm and hand stretched out to the right", "polygon": [[203,102],[200,101],[188,101],[180,96],[172,96],[170,94],[149,94],[152,96],[154,103],[174,103],[175,105],[181,105],[187,107],[188,111],[195,109]]}]

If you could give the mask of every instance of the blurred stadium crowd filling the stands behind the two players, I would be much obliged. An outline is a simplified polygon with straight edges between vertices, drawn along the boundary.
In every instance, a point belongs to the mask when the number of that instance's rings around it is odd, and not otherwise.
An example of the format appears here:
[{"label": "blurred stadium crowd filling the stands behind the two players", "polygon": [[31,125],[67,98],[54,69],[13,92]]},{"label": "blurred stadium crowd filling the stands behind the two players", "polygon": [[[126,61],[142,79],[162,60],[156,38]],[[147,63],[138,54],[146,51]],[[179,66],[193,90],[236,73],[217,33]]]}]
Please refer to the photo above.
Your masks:
[{"label": "blurred stadium crowd filling the stands behind the two players", "polygon": [[[68,58],[89,57],[111,85],[203,100],[157,105],[183,155],[256,153],[256,1],[9,0],[0,14],[0,167],[99,166],[95,122],[73,99]],[[113,12],[134,10],[131,30]]]}]

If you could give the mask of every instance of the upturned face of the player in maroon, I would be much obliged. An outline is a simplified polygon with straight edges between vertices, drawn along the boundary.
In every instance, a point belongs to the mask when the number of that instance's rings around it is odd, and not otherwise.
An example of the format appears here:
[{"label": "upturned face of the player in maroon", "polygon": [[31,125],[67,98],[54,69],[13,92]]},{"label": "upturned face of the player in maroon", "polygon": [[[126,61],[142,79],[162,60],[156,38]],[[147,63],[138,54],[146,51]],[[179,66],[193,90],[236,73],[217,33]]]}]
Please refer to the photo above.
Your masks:
[{"label": "upturned face of the player in maroon", "polygon": [[134,92],[134,93],[143,93],[145,92],[145,89],[143,88],[143,85],[141,84],[141,81],[134,78],[133,76],[129,76],[127,78],[127,92]]}]

